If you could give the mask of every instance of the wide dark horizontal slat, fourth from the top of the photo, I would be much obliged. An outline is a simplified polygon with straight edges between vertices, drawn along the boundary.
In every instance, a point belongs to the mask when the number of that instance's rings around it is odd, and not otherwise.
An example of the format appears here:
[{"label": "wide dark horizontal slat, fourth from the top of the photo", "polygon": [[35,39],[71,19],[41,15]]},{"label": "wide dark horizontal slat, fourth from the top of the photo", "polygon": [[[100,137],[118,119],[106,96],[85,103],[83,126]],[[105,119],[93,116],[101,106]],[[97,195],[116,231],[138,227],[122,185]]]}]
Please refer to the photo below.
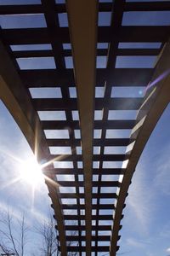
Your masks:
[{"label": "wide dark horizontal slat, fourth from the top of the photo", "polygon": [[[153,68],[116,68],[111,72],[105,68],[98,68],[96,73],[96,84],[102,84],[103,86],[105,81],[111,86],[146,86],[150,82]],[[57,86],[62,87],[74,86],[75,84],[72,69],[63,71],[55,69],[21,70],[20,77],[28,88],[39,86],[56,87],[56,83]],[[65,83],[65,78],[70,84],[68,82]]]}]

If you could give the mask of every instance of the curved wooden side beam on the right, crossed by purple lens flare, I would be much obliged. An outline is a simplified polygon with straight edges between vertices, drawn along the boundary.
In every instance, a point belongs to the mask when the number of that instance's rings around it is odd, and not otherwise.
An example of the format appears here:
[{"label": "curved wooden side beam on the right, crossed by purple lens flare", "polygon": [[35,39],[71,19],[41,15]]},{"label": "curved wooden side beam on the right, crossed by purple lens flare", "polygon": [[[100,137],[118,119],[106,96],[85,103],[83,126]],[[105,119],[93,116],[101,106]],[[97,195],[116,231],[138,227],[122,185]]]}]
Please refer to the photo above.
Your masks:
[{"label": "curved wooden side beam on the right, crossed by purple lens flare", "polygon": [[121,189],[116,202],[114,225],[111,234],[111,256],[116,255],[116,243],[118,240],[123,205],[126,200],[127,190],[133,177],[133,172],[157,121],[160,119],[161,114],[170,102],[169,59],[170,43],[168,42],[162,51],[160,60],[157,62],[156,70],[150,84],[154,84],[156,79],[157,82],[150,87],[146,93],[144,103],[139,108],[136,125],[134,126],[131,134],[131,138],[135,139],[135,143],[133,145],[133,149],[129,153],[130,155],[128,156],[129,160],[127,163],[127,169],[122,179]]}]

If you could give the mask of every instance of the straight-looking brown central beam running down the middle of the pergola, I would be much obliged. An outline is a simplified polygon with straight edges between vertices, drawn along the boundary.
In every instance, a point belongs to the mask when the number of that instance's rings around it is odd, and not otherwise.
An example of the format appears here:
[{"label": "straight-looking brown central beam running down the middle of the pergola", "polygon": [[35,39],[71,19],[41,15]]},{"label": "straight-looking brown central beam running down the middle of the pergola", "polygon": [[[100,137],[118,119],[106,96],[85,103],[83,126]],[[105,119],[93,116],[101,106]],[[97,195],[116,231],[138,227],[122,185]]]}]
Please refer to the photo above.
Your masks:
[{"label": "straight-looking brown central beam running down the middle of the pergola", "polygon": [[82,135],[85,189],[86,255],[91,256],[94,87],[97,44],[97,0],[68,0],[67,10],[74,58]]}]

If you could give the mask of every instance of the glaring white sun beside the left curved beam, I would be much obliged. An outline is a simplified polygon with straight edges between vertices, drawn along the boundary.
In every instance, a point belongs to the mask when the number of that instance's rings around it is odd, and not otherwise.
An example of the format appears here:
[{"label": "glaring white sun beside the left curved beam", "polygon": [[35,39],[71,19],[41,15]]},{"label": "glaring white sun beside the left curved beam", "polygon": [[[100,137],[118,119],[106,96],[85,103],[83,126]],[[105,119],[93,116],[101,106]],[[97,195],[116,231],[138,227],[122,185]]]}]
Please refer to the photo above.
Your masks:
[{"label": "glaring white sun beside the left curved beam", "polygon": [[41,166],[38,165],[35,157],[23,161],[20,165],[20,179],[33,187],[42,183],[43,175]]}]

